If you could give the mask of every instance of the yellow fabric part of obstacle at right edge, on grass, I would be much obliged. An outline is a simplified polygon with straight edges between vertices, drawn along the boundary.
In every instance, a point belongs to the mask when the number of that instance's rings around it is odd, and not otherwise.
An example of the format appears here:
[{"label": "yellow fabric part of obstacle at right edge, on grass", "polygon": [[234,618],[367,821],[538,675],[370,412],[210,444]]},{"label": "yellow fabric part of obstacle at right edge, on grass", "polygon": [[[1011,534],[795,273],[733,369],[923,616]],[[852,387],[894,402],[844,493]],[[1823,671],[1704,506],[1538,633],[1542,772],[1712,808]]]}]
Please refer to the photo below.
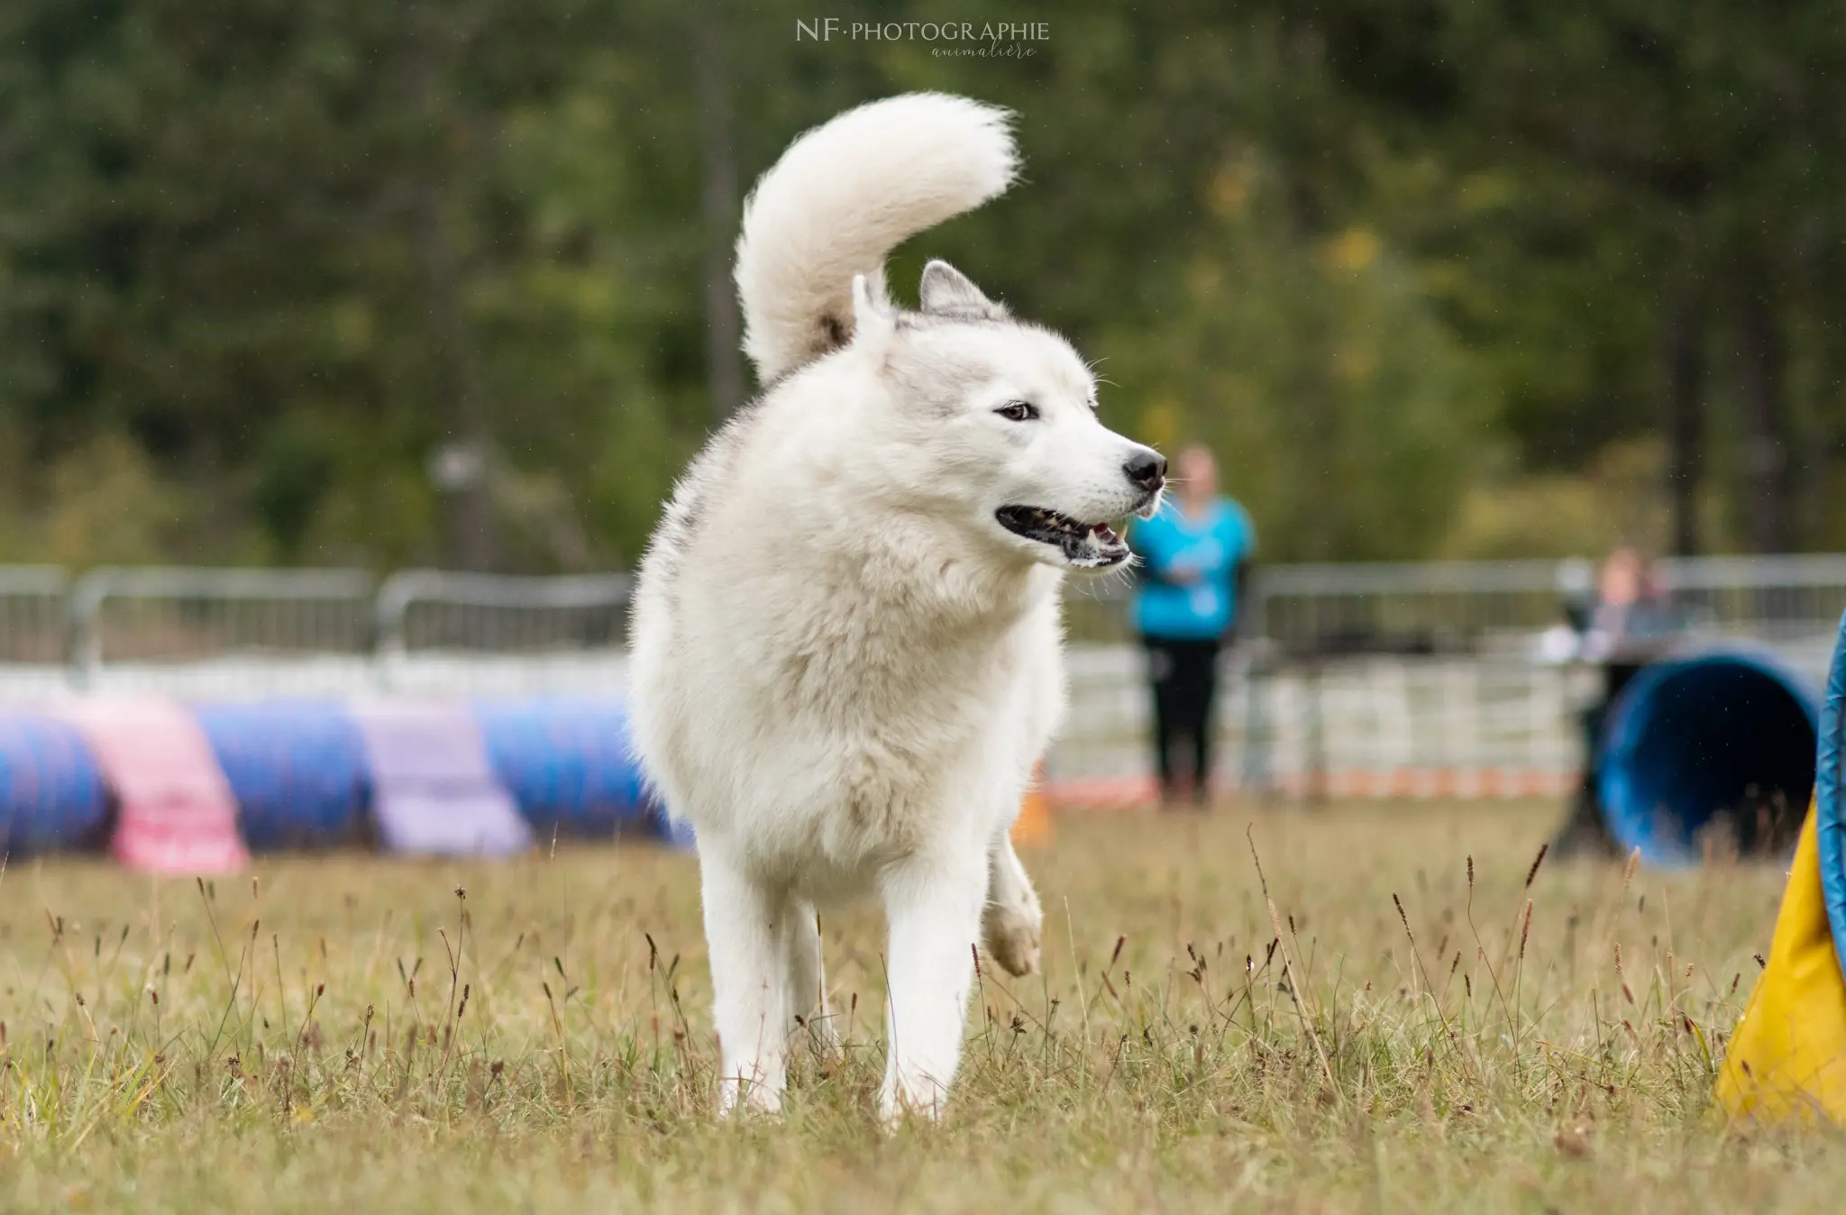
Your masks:
[{"label": "yellow fabric part of obstacle at right edge, on grass", "polygon": [[1794,848],[1768,962],[1719,1071],[1717,1099],[1732,1121],[1846,1126],[1846,979],[1822,897],[1813,809]]}]

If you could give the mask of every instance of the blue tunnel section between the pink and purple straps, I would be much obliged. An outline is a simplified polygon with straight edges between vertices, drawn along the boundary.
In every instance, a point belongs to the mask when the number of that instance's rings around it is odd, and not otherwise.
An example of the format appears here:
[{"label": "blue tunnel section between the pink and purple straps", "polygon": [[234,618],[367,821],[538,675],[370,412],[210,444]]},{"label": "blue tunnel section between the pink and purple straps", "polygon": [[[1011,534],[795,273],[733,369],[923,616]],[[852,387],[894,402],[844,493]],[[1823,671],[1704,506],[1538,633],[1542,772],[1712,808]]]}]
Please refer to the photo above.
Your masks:
[{"label": "blue tunnel section between the pink and purple straps", "polygon": [[279,700],[199,705],[194,716],[231,783],[249,848],[332,848],[358,838],[371,783],[345,707]]}]

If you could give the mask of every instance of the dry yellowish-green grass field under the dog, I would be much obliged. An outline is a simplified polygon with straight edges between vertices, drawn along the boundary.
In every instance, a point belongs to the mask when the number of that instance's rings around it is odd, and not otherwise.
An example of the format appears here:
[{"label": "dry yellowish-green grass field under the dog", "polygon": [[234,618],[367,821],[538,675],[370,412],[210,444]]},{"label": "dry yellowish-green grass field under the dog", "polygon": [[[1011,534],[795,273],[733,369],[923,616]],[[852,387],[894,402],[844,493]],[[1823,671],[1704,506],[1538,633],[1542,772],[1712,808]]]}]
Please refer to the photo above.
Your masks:
[{"label": "dry yellowish-green grass field under the dog", "polygon": [[1839,1141],[1709,1104],[1780,868],[1527,884],[1552,816],[1060,820],[1047,973],[984,971],[893,1137],[868,912],[823,921],[845,1058],[716,1123],[689,857],[15,862],[0,1209],[1840,1209]]}]

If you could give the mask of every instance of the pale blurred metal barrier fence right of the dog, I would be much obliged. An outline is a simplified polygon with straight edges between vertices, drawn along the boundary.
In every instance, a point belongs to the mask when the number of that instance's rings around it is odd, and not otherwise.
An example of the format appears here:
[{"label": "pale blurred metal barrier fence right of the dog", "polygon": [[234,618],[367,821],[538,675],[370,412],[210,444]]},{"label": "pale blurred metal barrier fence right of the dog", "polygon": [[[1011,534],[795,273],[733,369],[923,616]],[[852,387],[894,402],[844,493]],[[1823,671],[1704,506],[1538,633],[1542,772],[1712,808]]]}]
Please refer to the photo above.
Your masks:
[{"label": "pale blurred metal barrier fence right of the dog", "polygon": [[[1220,777],[1296,794],[1556,792],[1582,763],[1591,668],[1540,637],[1593,591],[1588,561],[1283,565],[1257,571],[1248,644],[1226,657]],[[1818,680],[1846,556],[1658,567],[1687,641],[1774,648]],[[1073,591],[1073,718],[1052,776],[1148,779],[1145,665],[1122,644],[1128,585]],[[1082,644],[1087,643],[1087,644]]]}]

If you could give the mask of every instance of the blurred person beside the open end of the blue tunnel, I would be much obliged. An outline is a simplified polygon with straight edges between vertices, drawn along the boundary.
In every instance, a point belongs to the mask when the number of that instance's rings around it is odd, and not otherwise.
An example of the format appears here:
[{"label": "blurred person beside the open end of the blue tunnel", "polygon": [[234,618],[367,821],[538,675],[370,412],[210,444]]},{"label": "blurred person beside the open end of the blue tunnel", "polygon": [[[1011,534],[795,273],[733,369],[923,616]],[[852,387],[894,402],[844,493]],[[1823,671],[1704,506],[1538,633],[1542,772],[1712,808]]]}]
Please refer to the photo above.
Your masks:
[{"label": "blurred person beside the open end of the blue tunnel", "polygon": [[1560,855],[1613,855],[1615,842],[1602,822],[1597,794],[1610,707],[1628,681],[1665,652],[1682,620],[1658,567],[1628,545],[1604,558],[1595,600],[1576,608],[1571,617],[1578,630],[1576,657],[1602,668],[1602,687],[1584,711],[1584,777],[1552,849]]}]

